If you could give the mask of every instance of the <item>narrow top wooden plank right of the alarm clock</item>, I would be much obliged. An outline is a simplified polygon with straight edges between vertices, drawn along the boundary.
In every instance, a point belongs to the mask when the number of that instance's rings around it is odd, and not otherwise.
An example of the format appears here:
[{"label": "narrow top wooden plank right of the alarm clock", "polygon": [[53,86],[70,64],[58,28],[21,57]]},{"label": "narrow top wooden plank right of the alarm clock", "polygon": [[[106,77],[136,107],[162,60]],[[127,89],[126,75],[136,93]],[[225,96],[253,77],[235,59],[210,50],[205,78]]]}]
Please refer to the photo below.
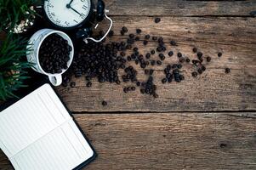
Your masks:
[{"label": "narrow top wooden plank right of the alarm clock", "polygon": [[250,16],[256,1],[105,0],[111,15]]}]

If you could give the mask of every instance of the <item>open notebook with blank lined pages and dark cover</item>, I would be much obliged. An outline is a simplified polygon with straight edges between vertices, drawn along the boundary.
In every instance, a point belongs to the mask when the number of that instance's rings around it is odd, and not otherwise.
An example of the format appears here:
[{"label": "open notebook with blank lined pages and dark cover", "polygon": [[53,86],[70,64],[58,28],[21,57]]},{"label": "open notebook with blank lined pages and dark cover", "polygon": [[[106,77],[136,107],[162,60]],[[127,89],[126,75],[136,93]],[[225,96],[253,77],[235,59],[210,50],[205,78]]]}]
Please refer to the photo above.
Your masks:
[{"label": "open notebook with blank lined pages and dark cover", "polygon": [[16,170],[79,169],[96,156],[48,83],[0,112],[0,147]]}]

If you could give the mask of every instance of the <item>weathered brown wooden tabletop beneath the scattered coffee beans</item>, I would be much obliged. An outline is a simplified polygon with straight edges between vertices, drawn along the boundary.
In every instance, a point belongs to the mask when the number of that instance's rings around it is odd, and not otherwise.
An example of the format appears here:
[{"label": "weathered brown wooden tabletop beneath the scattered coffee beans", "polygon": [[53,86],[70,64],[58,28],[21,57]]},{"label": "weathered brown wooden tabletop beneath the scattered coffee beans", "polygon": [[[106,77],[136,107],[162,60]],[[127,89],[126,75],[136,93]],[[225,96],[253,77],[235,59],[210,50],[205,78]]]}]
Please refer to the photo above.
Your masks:
[{"label": "weathered brown wooden tabletop beneath the scattered coffee beans", "polygon": [[[202,76],[185,69],[184,82],[165,85],[157,67],[158,99],[139,90],[123,94],[123,83],[86,88],[83,78],[76,88],[57,88],[99,153],[85,169],[256,169],[256,1],[105,2],[115,32],[141,28],[177,41],[175,53],[191,55],[197,47],[213,61]],[[0,155],[0,169],[11,169]]]}]

